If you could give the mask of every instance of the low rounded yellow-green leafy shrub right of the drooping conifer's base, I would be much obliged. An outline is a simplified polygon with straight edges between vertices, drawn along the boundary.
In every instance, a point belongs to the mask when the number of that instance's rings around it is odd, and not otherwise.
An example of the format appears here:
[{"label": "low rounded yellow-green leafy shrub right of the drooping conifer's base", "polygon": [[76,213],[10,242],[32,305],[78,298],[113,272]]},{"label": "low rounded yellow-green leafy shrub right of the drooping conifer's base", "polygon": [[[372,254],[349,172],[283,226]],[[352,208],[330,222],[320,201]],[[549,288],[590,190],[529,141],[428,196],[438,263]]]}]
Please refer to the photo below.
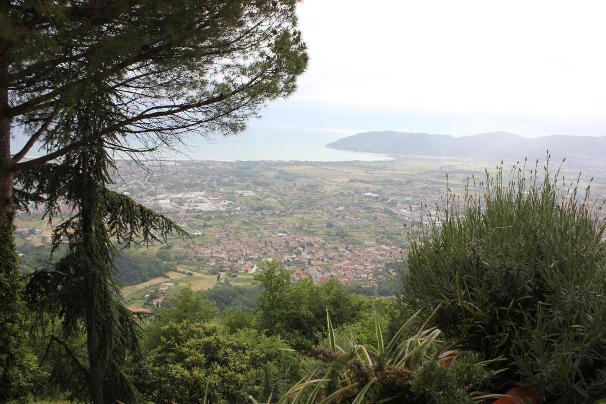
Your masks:
[{"label": "low rounded yellow-green leafy shrub right of the drooping conifer's base", "polygon": [[139,377],[142,394],[153,402],[199,403],[206,397],[208,403],[248,403],[248,396],[264,395],[262,386],[276,388],[271,375],[284,373],[281,362],[293,356],[281,345],[248,331],[227,338],[216,325],[171,323],[147,357],[150,366]]}]

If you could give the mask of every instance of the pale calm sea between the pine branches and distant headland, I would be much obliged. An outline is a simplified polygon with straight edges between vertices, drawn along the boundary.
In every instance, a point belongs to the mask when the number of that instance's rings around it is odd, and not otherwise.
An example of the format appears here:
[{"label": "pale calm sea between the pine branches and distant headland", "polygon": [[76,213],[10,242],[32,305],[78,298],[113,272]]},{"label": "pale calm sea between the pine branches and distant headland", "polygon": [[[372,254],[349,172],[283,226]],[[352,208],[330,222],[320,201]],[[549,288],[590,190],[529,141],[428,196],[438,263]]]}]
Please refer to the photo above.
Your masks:
[{"label": "pale calm sea between the pine branches and distant headland", "polygon": [[[388,160],[384,154],[329,149],[326,144],[353,135],[351,130],[251,127],[235,136],[217,137],[207,143],[198,136],[188,141],[195,149],[184,152],[193,160]],[[182,158],[182,157],[176,157]]]}]

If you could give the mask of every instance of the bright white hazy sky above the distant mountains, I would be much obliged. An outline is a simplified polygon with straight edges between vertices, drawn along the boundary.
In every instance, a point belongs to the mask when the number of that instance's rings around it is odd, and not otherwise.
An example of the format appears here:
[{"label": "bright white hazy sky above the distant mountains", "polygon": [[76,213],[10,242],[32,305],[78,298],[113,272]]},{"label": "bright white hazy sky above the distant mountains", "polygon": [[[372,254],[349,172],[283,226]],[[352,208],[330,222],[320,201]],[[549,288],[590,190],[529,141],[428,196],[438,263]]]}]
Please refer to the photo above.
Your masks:
[{"label": "bright white hazy sky above the distant mountains", "polygon": [[606,135],[606,2],[305,0],[299,90],[255,126]]}]

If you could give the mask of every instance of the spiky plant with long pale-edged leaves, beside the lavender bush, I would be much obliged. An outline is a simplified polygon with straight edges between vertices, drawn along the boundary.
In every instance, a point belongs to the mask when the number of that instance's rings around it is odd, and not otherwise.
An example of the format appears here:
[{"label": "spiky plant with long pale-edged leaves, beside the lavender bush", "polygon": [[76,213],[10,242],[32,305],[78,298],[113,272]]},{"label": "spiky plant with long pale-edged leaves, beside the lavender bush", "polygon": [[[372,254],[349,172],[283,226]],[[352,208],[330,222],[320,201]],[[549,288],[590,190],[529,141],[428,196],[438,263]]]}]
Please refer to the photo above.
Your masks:
[{"label": "spiky plant with long pale-edged leaves, beside the lavender bush", "polygon": [[487,363],[478,362],[474,355],[460,355],[457,361],[460,363],[445,368],[436,346],[438,329],[421,329],[410,338],[404,337],[414,316],[389,342],[384,342],[380,322],[375,317],[375,345],[361,345],[352,336],[348,348],[343,349],[336,343],[328,310],[326,313],[329,348],[316,347],[310,355],[327,363],[327,372],[316,380],[308,375],[279,402],[454,404],[488,398],[475,392],[494,375],[485,368]]}]

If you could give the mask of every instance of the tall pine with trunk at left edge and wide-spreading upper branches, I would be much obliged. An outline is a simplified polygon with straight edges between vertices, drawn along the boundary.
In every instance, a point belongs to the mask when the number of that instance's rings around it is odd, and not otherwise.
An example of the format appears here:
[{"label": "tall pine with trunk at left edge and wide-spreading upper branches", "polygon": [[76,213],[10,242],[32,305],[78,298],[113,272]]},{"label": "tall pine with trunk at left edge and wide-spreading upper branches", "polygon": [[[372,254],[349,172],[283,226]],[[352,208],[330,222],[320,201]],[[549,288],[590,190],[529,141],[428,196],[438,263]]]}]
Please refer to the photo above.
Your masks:
[{"label": "tall pine with trunk at left edge and wide-spreading upper branches", "polygon": [[[19,200],[13,177],[25,170],[22,178],[48,171],[52,164],[46,163],[57,158],[73,163],[75,157],[67,154],[90,143],[131,153],[173,149],[185,132],[212,136],[243,130],[267,101],[292,93],[305,69],[296,3],[0,4],[0,287],[5,291],[0,294],[0,386],[12,391],[0,394],[0,402],[18,396],[13,392],[22,390],[18,386],[28,374],[12,232],[15,207],[36,195]],[[92,99],[92,89],[107,125],[76,136],[65,124],[82,100]],[[14,155],[13,127],[27,136]],[[110,139],[116,133],[118,142]],[[24,160],[36,144],[42,144],[44,155]]]}]

